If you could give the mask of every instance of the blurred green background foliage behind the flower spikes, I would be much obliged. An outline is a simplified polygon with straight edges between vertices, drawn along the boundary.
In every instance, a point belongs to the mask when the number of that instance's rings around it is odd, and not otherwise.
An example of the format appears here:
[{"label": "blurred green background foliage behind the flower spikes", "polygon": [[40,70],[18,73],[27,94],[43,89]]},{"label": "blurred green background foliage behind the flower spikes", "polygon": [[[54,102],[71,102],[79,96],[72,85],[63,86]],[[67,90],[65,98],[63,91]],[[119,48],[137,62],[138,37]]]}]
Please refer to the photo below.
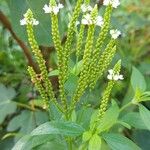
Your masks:
[{"label": "blurred green background foliage behind the flower spikes", "polygon": [[[61,0],[65,5],[60,13],[60,31],[62,42],[65,40],[66,31],[75,0]],[[56,53],[50,34],[49,15],[43,13],[42,8],[48,0],[0,0],[0,149],[9,150],[14,142],[22,135],[31,132],[36,126],[47,120],[47,114],[41,107],[41,100],[30,82],[26,71],[27,65],[32,64],[25,54],[25,49],[20,47],[24,43],[29,49],[25,28],[20,26],[19,20],[27,8],[31,8],[40,25],[35,28],[36,38],[42,53],[47,60],[49,70],[56,68]],[[93,1],[99,4],[100,14],[103,14],[102,1]],[[5,18],[4,18],[5,16]],[[2,22],[3,19],[3,22]],[[7,26],[6,19],[10,21]],[[5,21],[4,21],[5,20]],[[125,80],[115,86],[112,97],[120,105],[131,100],[133,89],[130,84],[132,67],[135,66],[143,74],[147,90],[150,90],[150,1],[149,0],[121,0],[121,6],[113,11],[112,28],[122,31],[118,40],[118,52],[112,64],[121,58],[122,72]],[[17,39],[22,43],[18,44]],[[27,59],[28,58],[28,59]],[[73,63],[73,62],[72,62]],[[72,66],[72,65],[71,65]],[[57,92],[57,72],[50,74]],[[66,91],[72,94],[76,86],[76,76],[71,76],[66,83]],[[87,103],[96,107],[99,103],[100,93],[106,80],[99,81],[93,93],[85,93],[82,102],[89,109]],[[150,109],[150,104],[145,103]],[[86,116],[85,116],[86,118]],[[86,122],[87,120],[85,120]],[[150,132],[145,130],[126,131],[129,138],[134,139],[143,150],[149,150]]]}]

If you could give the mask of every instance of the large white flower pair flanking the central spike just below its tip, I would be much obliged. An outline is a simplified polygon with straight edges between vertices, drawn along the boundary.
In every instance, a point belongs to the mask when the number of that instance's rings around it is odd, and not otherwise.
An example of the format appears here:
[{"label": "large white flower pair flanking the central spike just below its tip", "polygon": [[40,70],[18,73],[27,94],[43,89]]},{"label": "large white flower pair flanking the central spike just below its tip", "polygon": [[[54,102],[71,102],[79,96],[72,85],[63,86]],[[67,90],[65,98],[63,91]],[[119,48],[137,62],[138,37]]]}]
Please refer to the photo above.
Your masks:
[{"label": "large white flower pair flanking the central spike just below its tip", "polygon": [[84,25],[95,24],[95,25],[100,26],[100,27],[104,24],[103,18],[101,16],[97,16],[95,20],[92,20],[90,14],[84,15],[83,19],[81,20],[81,23]]}]

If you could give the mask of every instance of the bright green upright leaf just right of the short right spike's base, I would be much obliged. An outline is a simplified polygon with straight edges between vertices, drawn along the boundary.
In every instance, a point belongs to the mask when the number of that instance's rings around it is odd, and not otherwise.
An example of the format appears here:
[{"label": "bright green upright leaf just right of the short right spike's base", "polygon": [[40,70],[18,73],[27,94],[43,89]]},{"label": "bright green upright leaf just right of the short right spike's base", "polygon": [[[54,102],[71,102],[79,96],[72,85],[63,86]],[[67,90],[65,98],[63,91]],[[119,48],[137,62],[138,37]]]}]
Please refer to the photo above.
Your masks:
[{"label": "bright green upright leaf just right of the short right spike's base", "polygon": [[97,128],[98,133],[106,131],[111,128],[118,119],[119,116],[119,107],[117,104],[112,105],[105,113],[104,117],[100,120],[99,126]]}]

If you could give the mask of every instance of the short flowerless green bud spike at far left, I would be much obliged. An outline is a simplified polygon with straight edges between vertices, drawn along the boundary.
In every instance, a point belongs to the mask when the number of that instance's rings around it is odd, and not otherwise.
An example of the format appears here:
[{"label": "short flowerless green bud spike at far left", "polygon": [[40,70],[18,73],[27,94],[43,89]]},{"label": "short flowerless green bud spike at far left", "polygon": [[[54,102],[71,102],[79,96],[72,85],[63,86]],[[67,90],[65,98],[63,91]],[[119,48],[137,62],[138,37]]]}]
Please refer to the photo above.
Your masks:
[{"label": "short flowerless green bud spike at far left", "polygon": [[28,66],[28,72],[31,76],[32,82],[35,84],[36,89],[39,91],[42,99],[44,100],[43,108],[48,109],[49,108],[48,95],[45,92],[45,89],[43,88],[43,86],[41,85],[41,81],[37,78],[37,74],[35,73],[32,67]]}]

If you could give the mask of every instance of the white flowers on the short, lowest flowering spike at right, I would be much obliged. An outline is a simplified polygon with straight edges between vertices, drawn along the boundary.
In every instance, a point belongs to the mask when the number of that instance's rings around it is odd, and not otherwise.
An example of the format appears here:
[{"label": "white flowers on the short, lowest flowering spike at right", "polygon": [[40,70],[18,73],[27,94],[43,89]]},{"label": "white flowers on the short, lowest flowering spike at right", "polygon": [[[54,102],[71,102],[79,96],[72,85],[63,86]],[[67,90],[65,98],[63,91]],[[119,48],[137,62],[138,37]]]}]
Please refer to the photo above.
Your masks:
[{"label": "white flowers on the short, lowest flowering spike at right", "polygon": [[117,80],[123,80],[124,79],[122,74],[114,74],[113,69],[108,70],[108,72],[109,72],[109,74],[108,74],[107,78],[109,80],[117,81]]}]

